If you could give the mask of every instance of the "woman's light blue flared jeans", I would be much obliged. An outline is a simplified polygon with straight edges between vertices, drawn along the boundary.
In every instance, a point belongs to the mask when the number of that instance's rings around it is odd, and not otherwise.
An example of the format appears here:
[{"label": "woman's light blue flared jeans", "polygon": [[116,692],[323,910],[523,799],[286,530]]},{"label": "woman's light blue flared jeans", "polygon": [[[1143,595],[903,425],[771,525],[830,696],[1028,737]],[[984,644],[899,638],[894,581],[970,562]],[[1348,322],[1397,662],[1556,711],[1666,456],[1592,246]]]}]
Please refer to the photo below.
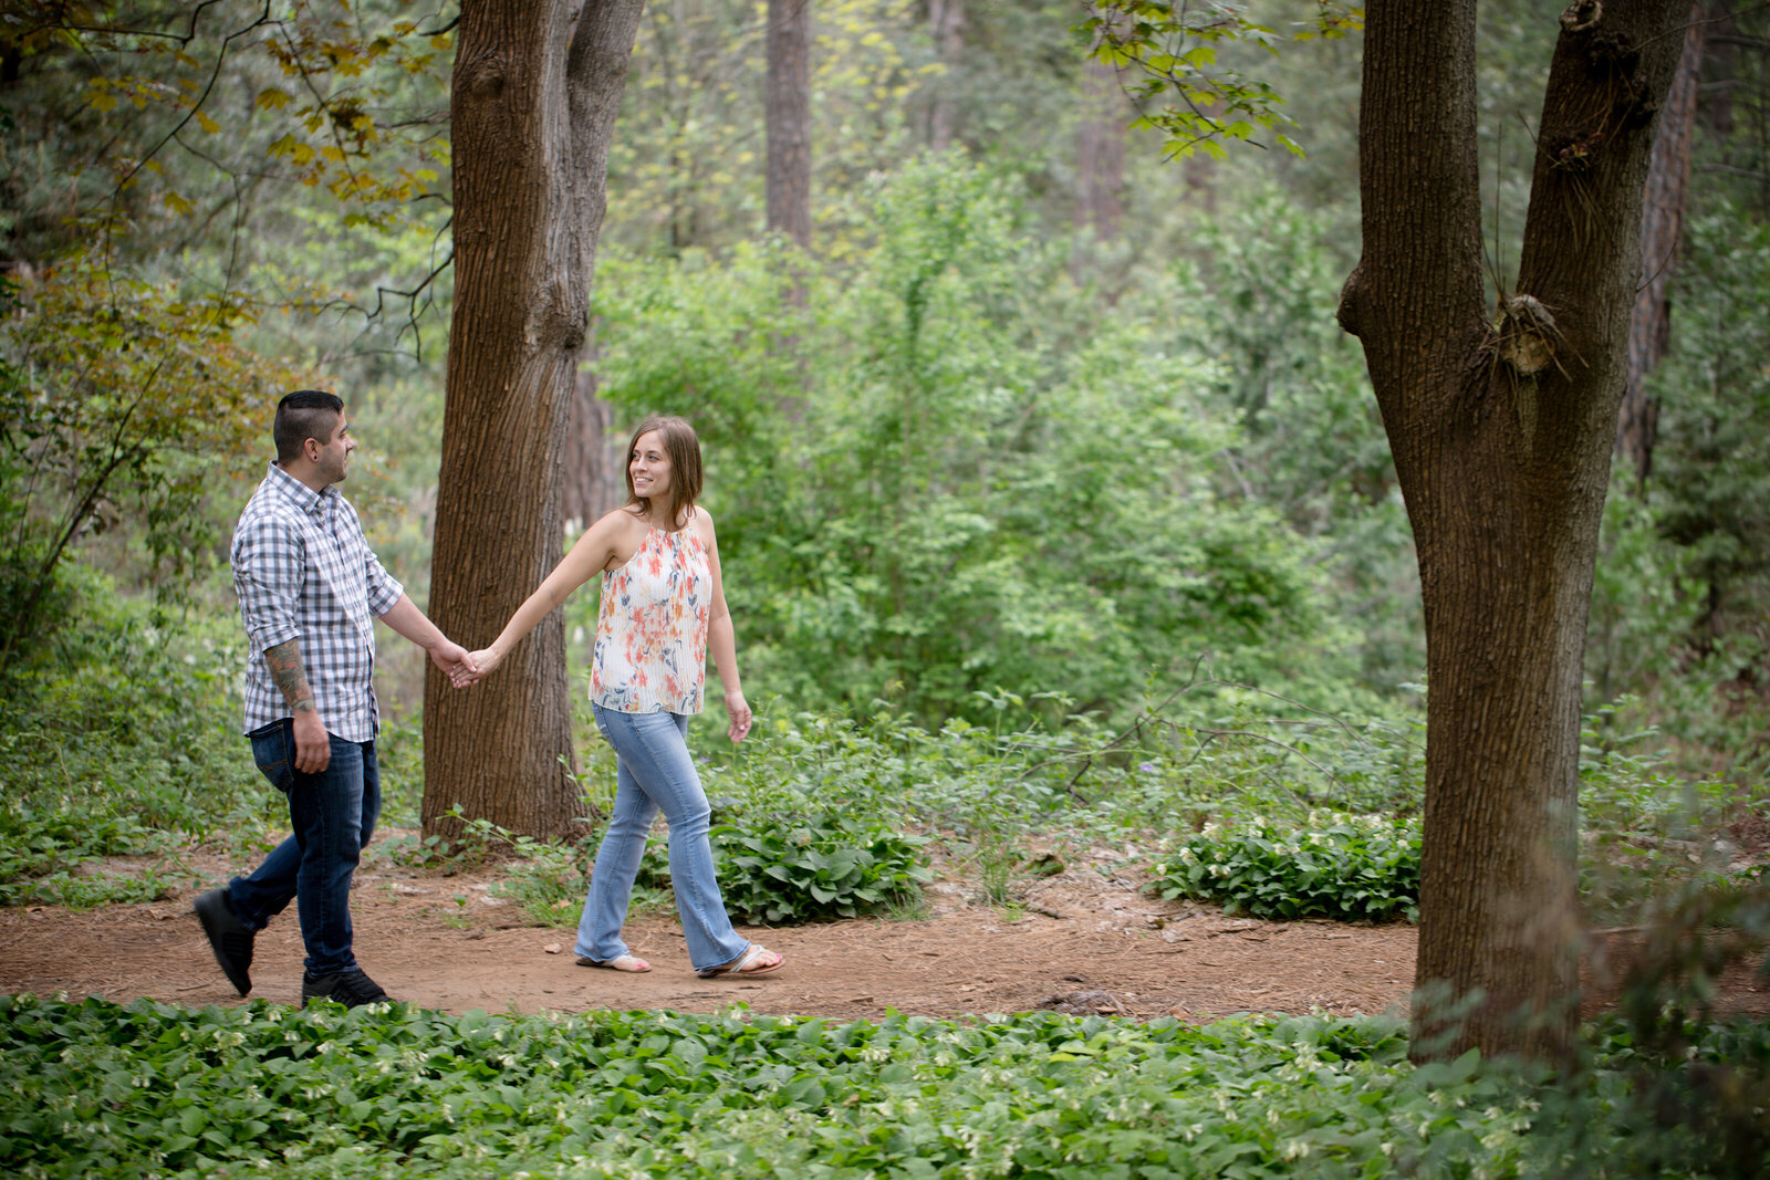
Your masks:
[{"label": "woman's light blue flared jeans", "polygon": [[589,874],[573,950],[596,962],[630,954],[621,941],[621,923],[646,851],[646,831],[662,810],[669,823],[669,879],[689,939],[689,962],[696,971],[731,962],[750,943],[731,929],[726,899],[713,877],[713,846],[706,839],[712,808],[689,755],[687,715],[621,713],[600,704],[591,711],[596,729],[614,747],[614,814]]}]

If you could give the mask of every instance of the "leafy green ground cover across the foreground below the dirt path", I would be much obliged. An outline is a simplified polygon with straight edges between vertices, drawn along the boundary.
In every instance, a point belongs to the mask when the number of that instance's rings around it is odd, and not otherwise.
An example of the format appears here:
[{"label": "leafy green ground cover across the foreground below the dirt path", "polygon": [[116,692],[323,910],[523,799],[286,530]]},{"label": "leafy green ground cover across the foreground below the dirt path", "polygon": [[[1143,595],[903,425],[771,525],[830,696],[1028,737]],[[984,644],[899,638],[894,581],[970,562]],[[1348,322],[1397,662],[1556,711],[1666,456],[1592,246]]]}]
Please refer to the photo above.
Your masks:
[{"label": "leafy green ground cover across the foreground below the dirt path", "polygon": [[[1595,1033],[1577,1077],[1531,1079],[1474,1054],[1414,1069],[1402,1033],[1317,1015],[1204,1028],[742,1007],[450,1017],[16,996],[0,998],[0,1164],[21,1176],[1517,1176],[1581,1171],[1593,1120],[1627,1157],[1627,1037]],[[1706,1030],[1690,1056],[1765,1047],[1761,1028]],[[1699,1162],[1697,1143],[1676,1159],[1666,1143],[1657,1162]]]}]

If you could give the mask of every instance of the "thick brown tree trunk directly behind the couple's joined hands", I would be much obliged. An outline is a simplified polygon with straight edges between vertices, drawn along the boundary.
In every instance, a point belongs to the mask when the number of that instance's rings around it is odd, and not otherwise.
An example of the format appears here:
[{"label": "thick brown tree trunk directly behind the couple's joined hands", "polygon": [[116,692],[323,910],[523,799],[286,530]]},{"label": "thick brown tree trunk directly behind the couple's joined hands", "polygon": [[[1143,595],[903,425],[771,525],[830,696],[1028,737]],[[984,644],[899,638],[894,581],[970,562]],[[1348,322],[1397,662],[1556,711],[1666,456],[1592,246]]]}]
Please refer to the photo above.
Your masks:
[{"label": "thick brown tree trunk directly behind the couple's joined hands", "polygon": [[[489,644],[561,554],[559,460],[641,0],[467,0],[453,90],[455,317],[430,614]],[[563,764],[561,764],[563,762]],[[565,633],[485,683],[425,679],[425,831],[577,835]]]}]

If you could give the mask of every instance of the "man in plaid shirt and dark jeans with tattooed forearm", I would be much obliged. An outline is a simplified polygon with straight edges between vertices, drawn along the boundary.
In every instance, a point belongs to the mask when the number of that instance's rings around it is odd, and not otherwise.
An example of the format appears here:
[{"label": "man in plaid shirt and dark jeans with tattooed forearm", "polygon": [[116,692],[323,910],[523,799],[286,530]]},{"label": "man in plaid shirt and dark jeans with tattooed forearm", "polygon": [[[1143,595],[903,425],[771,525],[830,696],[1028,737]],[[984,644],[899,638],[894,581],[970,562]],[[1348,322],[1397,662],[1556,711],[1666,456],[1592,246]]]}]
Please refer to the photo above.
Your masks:
[{"label": "man in plaid shirt and dark jeans with tattooed forearm", "polygon": [[251,943],[296,900],[306,973],[301,1003],[349,1007],[388,994],[350,946],[350,877],[381,814],[375,768],[372,616],[430,653],[444,672],[467,655],[418,610],[363,540],[340,495],[356,439],[343,402],[301,389],[276,405],[276,462],[234,529],[234,589],[251,656],[246,736],[289,796],[294,835],[257,872],[196,899],[216,962],[251,991]]}]

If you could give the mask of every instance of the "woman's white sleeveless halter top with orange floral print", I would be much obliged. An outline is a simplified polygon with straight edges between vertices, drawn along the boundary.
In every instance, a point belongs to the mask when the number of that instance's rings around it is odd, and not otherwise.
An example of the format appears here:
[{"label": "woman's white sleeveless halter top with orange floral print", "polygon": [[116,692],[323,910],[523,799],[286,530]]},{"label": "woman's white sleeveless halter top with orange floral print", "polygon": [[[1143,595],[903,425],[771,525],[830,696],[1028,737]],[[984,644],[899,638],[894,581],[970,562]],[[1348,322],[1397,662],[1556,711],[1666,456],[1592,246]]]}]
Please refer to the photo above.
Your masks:
[{"label": "woman's white sleeveless halter top with orange floral print", "polygon": [[602,575],[589,699],[616,713],[699,713],[713,571],[694,529],[653,527]]}]

